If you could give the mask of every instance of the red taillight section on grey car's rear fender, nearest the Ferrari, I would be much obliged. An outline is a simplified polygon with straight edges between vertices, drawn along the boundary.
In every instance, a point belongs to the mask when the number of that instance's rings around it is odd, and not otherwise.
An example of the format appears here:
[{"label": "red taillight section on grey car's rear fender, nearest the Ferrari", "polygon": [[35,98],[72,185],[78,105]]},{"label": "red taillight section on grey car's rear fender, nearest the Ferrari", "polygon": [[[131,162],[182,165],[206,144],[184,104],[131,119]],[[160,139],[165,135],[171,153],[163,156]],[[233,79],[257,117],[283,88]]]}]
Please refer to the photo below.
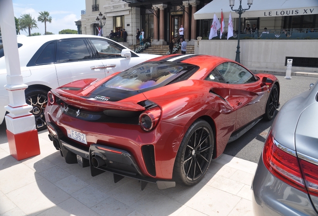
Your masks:
[{"label": "red taillight section on grey car's rear fender, nearest the Ferrari", "polygon": [[[284,149],[284,150],[282,150]],[[262,153],[266,168],[283,182],[307,193],[296,153],[276,142],[269,132]]]}]

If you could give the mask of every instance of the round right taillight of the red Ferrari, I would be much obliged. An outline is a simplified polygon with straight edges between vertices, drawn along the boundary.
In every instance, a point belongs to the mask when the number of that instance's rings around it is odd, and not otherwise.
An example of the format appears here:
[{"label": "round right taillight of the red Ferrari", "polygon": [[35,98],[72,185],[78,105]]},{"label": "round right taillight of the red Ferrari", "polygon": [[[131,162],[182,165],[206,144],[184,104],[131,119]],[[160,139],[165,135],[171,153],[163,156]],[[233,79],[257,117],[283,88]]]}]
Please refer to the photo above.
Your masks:
[{"label": "round right taillight of the red Ferrari", "polygon": [[153,129],[159,122],[161,109],[158,106],[147,109],[139,115],[139,124],[145,131]]}]

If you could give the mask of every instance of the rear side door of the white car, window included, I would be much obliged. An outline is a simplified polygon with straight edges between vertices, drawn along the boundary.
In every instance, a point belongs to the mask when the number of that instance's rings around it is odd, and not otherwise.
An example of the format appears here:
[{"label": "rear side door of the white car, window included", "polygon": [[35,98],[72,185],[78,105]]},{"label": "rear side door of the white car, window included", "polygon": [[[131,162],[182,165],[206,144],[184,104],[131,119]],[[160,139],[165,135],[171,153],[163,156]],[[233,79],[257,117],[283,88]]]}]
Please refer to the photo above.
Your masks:
[{"label": "rear side door of the white car, window included", "polygon": [[57,41],[55,68],[59,85],[78,79],[105,77],[101,60],[95,57],[85,38]]}]

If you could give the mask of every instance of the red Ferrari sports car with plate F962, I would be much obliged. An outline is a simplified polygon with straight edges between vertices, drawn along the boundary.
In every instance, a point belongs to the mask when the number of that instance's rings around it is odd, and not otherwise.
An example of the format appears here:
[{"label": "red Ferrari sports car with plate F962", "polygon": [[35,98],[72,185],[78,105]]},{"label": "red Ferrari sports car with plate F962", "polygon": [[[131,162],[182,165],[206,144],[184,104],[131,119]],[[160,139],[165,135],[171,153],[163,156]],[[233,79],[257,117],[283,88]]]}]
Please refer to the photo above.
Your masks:
[{"label": "red Ferrari sports car with plate F962", "polygon": [[67,163],[163,189],[199,182],[228,142],[273,118],[278,100],[274,75],[218,56],[175,54],[52,89],[45,119]]}]

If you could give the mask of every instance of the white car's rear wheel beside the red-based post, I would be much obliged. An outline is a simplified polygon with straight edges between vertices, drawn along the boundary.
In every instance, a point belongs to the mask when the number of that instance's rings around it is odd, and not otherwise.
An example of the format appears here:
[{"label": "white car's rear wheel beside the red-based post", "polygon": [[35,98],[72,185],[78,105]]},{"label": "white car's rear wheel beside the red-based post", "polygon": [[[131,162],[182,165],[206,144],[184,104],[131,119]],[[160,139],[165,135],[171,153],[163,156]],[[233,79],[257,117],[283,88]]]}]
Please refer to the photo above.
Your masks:
[{"label": "white car's rear wheel beside the red-based post", "polygon": [[44,109],[47,104],[47,91],[43,89],[26,89],[25,101],[33,108],[30,111],[35,117],[35,126],[38,131],[46,129]]}]

